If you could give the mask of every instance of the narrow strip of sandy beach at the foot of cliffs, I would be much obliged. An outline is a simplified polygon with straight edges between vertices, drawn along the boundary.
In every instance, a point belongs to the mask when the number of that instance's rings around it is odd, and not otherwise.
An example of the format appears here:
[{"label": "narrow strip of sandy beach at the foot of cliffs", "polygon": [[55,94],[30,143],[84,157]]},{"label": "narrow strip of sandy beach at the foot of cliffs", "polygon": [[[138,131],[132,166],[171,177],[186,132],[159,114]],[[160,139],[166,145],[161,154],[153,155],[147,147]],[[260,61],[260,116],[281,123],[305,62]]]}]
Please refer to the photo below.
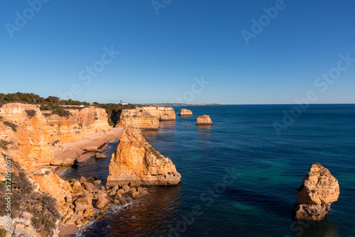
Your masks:
[{"label": "narrow strip of sandy beach at the foot of cliffs", "polygon": [[[75,160],[77,162],[83,162],[89,158],[94,157],[94,152],[87,152],[87,147],[102,147],[105,143],[113,142],[122,134],[124,128],[111,128],[110,131],[95,133],[91,136],[86,136],[82,140],[78,140],[73,143],[59,143],[50,147],[52,153],[58,162],[52,165],[73,164]],[[60,175],[66,167],[59,167],[55,171],[57,175]]]}]

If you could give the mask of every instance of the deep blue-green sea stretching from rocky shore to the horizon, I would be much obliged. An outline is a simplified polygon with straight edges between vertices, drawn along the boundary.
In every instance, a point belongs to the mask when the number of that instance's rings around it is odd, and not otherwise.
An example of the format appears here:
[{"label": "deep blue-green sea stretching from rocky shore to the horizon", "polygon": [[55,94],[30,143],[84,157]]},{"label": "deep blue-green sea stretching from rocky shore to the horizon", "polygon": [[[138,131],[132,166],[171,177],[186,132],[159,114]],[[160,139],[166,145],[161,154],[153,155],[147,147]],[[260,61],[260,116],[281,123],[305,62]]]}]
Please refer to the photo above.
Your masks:
[{"label": "deep blue-green sea stretching from rocky shore to the horizon", "polygon": [[[76,236],[355,236],[355,105],[312,105],[277,133],[273,123],[293,107],[186,106],[189,117],[174,107],[176,121],[143,135],[173,160],[181,184],[153,187]],[[195,125],[203,114],[213,126]],[[295,189],[315,162],[339,181],[339,199],[323,221],[294,221]],[[63,177],[105,180],[108,165],[88,160]]]}]

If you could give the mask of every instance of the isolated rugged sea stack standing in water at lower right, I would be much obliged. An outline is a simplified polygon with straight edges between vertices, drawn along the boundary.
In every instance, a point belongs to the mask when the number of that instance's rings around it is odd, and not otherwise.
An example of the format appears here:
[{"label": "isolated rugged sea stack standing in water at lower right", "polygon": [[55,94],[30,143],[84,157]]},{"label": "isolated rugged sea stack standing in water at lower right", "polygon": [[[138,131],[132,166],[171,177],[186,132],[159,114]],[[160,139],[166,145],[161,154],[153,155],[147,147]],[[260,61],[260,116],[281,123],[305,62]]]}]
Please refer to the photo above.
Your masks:
[{"label": "isolated rugged sea stack standing in water at lower right", "polygon": [[297,190],[295,219],[322,221],[339,197],[337,179],[319,163],[310,166]]}]

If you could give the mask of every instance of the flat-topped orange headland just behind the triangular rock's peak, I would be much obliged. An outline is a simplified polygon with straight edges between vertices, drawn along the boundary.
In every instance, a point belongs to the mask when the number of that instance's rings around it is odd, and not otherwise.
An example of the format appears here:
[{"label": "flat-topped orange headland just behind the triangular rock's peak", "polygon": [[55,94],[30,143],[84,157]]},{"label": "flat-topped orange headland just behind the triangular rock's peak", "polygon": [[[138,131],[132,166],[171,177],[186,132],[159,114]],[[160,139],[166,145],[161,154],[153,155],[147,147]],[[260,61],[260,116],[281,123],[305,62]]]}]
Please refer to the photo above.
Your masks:
[{"label": "flat-topped orange headland just behind the triangular rock's peak", "polygon": [[123,109],[119,116],[118,128],[136,126],[140,129],[159,129],[159,120],[143,109]]}]

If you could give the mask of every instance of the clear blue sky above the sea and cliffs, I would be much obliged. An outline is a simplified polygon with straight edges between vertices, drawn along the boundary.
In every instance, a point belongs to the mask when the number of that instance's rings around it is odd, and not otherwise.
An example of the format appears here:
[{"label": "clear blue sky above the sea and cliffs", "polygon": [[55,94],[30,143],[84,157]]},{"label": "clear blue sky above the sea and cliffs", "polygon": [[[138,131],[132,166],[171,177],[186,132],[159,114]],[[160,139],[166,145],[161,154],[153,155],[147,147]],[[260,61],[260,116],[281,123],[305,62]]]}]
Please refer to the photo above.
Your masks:
[{"label": "clear blue sky above the sea and cliffs", "polygon": [[[312,90],[314,103],[355,103],[355,61],[315,86],[340,54],[355,57],[355,1],[285,0],[247,45],[241,32],[276,2],[157,0],[157,14],[151,1],[51,0],[36,12],[2,0],[0,92],[59,96],[77,84],[73,99],[91,102],[293,104]],[[85,84],[111,46],[120,53]]]}]

